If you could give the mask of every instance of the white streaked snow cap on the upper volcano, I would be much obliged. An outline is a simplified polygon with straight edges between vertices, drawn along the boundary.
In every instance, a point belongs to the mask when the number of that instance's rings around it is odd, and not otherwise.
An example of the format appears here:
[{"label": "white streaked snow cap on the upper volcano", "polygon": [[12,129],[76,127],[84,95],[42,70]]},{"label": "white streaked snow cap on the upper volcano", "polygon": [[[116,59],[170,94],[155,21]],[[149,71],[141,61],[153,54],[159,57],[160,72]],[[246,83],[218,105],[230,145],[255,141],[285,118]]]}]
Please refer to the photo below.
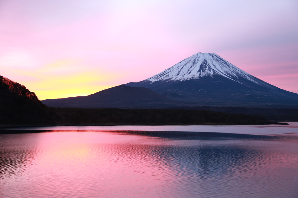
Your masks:
[{"label": "white streaked snow cap on the upper volcano", "polygon": [[190,56],[176,65],[158,73],[144,81],[186,81],[204,76],[221,75],[243,84],[240,77],[253,81],[261,86],[268,86],[258,81],[254,76],[227,62],[215,53],[198,53]]}]

